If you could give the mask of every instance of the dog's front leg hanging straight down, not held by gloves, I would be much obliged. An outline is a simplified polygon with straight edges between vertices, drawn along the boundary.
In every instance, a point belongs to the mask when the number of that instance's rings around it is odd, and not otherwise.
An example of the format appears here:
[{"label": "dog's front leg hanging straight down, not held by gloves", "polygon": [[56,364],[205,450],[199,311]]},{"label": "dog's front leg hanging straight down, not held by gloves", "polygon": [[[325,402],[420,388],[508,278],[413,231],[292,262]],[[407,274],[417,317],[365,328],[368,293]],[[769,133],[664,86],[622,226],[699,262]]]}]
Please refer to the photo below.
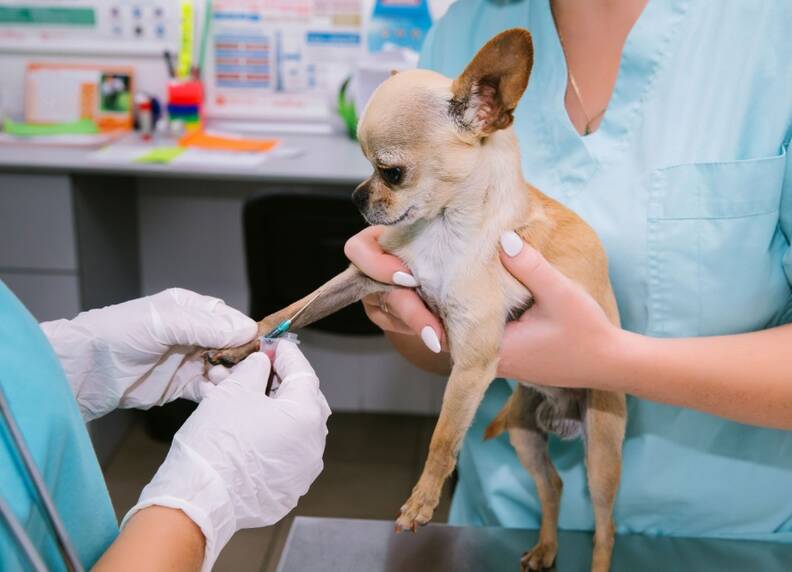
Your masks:
[{"label": "dog's front leg hanging straight down, not held by gloves", "polygon": [[410,529],[429,522],[440,501],[443,483],[456,465],[462,438],[495,377],[504,317],[468,320],[466,329],[448,327],[454,366],[448,379],[440,417],[437,420],[429,455],[412,495],[401,507],[396,530]]}]

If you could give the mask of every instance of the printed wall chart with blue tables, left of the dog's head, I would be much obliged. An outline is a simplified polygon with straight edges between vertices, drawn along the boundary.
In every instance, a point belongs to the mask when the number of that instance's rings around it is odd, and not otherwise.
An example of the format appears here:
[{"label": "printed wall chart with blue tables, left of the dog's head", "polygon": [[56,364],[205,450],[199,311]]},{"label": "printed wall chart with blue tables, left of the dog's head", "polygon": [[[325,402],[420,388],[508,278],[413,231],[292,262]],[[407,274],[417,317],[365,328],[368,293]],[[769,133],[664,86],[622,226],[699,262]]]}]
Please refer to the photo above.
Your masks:
[{"label": "printed wall chart with blue tables, left of the dog's head", "polygon": [[361,0],[214,0],[207,113],[327,122],[363,52]]}]

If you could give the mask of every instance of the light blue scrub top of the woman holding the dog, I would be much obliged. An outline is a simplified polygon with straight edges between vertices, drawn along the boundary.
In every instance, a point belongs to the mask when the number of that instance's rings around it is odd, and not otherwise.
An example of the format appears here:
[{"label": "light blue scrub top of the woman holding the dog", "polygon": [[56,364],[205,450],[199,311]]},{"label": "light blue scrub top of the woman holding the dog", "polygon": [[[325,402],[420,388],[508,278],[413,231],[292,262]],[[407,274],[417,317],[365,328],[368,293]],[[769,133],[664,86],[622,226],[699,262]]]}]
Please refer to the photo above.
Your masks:
[{"label": "light blue scrub top of the woman holding the dog", "polygon": [[[792,321],[790,22],[792,3],[780,0],[652,0],[587,137],[564,107],[548,0],[458,1],[421,67],[454,77],[495,34],[530,30],[535,61],[514,121],[523,172],[598,232],[623,327],[734,334]],[[453,523],[539,526],[507,437],[482,441],[510,391],[493,383],[467,434]],[[792,541],[792,432],[634,398],[628,414],[620,532]],[[560,526],[592,529],[582,443],[553,439],[550,451],[564,480]]]}]

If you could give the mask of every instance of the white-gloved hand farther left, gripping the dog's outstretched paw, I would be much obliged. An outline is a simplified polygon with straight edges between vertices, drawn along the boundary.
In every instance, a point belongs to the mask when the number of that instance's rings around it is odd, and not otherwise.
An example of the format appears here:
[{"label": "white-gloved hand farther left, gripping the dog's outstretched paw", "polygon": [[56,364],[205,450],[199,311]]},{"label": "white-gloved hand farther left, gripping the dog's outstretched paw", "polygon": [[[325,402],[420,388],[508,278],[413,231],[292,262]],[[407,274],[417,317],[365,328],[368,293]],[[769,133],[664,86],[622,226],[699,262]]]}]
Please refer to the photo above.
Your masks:
[{"label": "white-gloved hand farther left, gripping the dog's outstretched paw", "polygon": [[253,320],[222,300],[181,288],[41,328],[86,421],[119,407],[200,400],[212,384],[196,348],[239,346],[257,332]]}]

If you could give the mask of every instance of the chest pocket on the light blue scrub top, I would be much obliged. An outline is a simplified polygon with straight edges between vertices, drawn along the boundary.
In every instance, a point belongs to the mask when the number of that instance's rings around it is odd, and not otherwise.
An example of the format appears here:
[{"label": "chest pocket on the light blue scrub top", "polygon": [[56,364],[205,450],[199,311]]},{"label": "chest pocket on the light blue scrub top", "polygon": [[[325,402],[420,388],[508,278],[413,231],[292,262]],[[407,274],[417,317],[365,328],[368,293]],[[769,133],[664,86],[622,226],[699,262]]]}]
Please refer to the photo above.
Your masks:
[{"label": "chest pocket on the light blue scrub top", "polygon": [[786,155],[653,171],[649,328],[703,336],[764,327],[788,303],[778,226]]}]

